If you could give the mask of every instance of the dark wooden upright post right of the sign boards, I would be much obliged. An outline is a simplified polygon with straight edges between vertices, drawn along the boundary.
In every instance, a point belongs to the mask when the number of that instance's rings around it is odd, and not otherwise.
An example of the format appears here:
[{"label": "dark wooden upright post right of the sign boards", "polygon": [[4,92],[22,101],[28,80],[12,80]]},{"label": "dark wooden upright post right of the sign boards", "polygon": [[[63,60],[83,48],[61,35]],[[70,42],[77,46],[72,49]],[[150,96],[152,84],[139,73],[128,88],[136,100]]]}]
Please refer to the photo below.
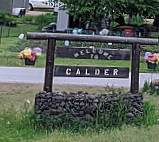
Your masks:
[{"label": "dark wooden upright post right of the sign boards", "polygon": [[139,64],[140,64],[140,45],[132,45],[132,62],[131,62],[131,90],[135,94],[139,91]]}]

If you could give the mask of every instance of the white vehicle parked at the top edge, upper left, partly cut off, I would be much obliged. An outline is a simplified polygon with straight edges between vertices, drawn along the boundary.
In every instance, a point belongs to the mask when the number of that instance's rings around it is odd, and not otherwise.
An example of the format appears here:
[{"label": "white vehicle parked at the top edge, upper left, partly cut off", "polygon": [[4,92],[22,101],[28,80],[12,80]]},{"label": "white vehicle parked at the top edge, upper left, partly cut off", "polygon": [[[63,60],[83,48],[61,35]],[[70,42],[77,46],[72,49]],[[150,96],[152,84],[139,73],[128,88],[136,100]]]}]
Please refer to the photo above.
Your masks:
[{"label": "white vehicle parked at the top edge, upper left, partly cut off", "polygon": [[29,0],[29,10],[34,9],[53,9],[53,4],[48,0]]}]

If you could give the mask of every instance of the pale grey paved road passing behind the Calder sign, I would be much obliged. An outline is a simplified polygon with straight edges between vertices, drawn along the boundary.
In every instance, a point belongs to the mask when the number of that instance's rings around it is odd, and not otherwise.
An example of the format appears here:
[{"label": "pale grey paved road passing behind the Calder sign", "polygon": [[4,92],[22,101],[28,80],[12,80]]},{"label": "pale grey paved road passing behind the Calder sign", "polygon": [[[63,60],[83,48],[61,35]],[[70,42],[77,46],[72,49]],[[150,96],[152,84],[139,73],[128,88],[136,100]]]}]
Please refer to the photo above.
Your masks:
[{"label": "pale grey paved road passing behind the Calder sign", "polygon": [[[30,67],[0,67],[0,82],[7,83],[44,83],[44,68]],[[130,76],[130,75],[129,75]],[[159,79],[159,74],[140,73],[140,87],[144,82]],[[130,87],[129,79],[84,78],[84,77],[54,77],[55,85],[84,85],[101,86],[114,85],[116,87]]]}]

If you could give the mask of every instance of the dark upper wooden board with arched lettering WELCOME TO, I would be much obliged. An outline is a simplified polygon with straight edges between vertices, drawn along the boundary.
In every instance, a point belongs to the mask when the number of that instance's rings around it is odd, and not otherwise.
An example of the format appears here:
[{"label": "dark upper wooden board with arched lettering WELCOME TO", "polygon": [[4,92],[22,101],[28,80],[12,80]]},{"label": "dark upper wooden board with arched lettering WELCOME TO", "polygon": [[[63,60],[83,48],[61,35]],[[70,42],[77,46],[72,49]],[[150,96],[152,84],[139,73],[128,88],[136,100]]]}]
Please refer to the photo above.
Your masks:
[{"label": "dark upper wooden board with arched lettering WELCOME TO", "polygon": [[99,60],[130,60],[130,50],[84,47],[57,47],[56,57]]}]

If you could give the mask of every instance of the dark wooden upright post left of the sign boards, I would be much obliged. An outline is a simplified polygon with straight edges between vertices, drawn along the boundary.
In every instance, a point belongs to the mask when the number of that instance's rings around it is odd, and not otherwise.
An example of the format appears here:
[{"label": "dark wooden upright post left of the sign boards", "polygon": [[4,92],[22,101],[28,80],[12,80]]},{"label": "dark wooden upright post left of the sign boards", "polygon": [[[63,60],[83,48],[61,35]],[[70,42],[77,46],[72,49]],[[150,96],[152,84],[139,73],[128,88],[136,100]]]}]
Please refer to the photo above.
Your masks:
[{"label": "dark wooden upright post left of the sign boards", "polygon": [[52,92],[55,46],[56,46],[56,40],[48,39],[46,68],[45,68],[45,82],[44,82],[44,91],[46,92]]}]

